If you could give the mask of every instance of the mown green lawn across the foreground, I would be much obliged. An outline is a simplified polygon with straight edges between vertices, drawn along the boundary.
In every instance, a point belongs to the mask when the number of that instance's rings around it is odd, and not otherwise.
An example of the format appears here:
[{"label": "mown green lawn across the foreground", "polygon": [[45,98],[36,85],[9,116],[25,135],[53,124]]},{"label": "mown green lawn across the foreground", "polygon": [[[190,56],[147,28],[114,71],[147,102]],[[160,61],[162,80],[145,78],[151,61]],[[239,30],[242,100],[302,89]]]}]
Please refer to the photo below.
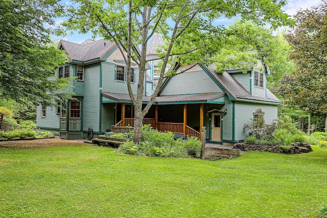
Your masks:
[{"label": "mown green lawn across the foreground", "polygon": [[318,217],[327,150],[313,149],[204,161],[0,148],[0,217]]}]

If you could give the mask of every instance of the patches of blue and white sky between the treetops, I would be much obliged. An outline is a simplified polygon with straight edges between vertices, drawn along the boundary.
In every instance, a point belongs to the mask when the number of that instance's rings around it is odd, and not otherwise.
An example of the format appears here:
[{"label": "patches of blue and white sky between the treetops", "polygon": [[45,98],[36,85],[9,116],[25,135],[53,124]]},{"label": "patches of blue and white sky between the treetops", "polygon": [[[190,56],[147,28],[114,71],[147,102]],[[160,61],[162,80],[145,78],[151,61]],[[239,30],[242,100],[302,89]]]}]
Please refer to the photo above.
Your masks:
[{"label": "patches of blue and white sky between the treetops", "polygon": [[[321,4],[321,0],[289,0],[288,4],[286,6],[283,7],[283,11],[285,11],[287,14],[293,16],[294,14],[296,14],[296,12],[299,9],[310,9],[311,7],[314,6],[318,6],[319,4]],[[226,18],[220,18],[215,20],[216,25],[224,25],[224,26],[228,26],[230,23],[235,22],[235,20],[238,19],[233,18],[233,19],[226,19]],[[55,20],[56,24],[58,25],[61,21],[62,18],[58,18]],[[67,41],[71,41],[71,42],[75,42],[75,43],[81,43],[83,41],[85,41],[88,38],[92,38],[92,34],[88,33],[88,34],[79,34],[77,32],[75,32],[73,35],[66,35],[65,37],[63,37],[62,39],[67,40]],[[61,38],[54,38],[56,40],[60,40]],[[100,39],[100,38],[97,38]]]}]

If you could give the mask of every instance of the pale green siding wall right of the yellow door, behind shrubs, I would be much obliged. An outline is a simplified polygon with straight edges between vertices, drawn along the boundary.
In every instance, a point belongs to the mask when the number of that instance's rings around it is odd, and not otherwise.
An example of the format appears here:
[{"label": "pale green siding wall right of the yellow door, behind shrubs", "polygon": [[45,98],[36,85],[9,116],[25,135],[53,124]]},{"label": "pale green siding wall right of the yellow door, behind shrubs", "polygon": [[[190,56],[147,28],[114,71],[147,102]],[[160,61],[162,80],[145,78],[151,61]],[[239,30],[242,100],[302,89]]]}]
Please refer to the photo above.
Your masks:
[{"label": "pale green siding wall right of the yellow door, behind shrubs", "polygon": [[[244,124],[252,122],[253,112],[256,109],[261,108],[265,112],[264,119],[266,124],[271,124],[272,120],[277,119],[278,106],[276,105],[264,105],[254,103],[235,103],[235,139],[244,140],[247,137],[247,133],[244,131]],[[224,123],[225,127],[225,123]]]}]

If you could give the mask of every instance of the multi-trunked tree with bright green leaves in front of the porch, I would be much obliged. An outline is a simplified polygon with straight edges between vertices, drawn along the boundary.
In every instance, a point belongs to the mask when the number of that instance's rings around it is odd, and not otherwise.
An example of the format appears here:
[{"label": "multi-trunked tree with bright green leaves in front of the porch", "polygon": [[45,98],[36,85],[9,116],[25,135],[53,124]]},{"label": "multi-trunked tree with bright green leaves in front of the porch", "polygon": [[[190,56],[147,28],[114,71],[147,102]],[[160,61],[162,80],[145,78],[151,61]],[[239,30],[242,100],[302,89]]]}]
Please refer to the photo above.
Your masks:
[{"label": "multi-trunked tree with bright green leaves in front of the porch", "polygon": [[[226,38],[225,28],[213,26],[213,21],[222,16],[232,18],[240,16],[244,20],[253,20],[262,25],[270,22],[272,27],[293,23],[281,7],[286,1],[89,1],[76,0],[67,10],[69,17],[65,26],[80,33],[91,31],[95,35],[112,40],[118,46],[127,63],[127,88],[134,113],[134,142],[141,139],[143,117],[153,104],[165,77],[176,74],[174,68],[165,72],[169,63],[174,66],[176,60],[181,65],[188,63],[211,64],[217,52],[222,49]],[[158,86],[151,100],[142,110],[144,93],[144,75],[146,70],[146,52],[149,39],[159,33],[166,46],[159,52],[161,71]],[[139,44],[141,52],[137,54],[134,44]],[[124,52],[127,55],[124,55]],[[139,82],[136,98],[130,87],[130,63],[133,60],[139,68]],[[152,59],[153,60],[153,59]],[[194,66],[191,65],[192,66]]]}]

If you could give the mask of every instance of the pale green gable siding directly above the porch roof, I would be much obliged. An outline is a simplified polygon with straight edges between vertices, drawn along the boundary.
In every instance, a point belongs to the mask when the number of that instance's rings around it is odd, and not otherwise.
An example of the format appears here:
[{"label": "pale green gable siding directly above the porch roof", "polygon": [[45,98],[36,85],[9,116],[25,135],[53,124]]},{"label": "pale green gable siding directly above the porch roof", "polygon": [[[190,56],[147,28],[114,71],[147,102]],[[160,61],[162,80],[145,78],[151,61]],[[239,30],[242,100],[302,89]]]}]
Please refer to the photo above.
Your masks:
[{"label": "pale green gable siding directly above the porch roof", "polygon": [[223,92],[203,71],[183,72],[170,79],[161,96]]}]

